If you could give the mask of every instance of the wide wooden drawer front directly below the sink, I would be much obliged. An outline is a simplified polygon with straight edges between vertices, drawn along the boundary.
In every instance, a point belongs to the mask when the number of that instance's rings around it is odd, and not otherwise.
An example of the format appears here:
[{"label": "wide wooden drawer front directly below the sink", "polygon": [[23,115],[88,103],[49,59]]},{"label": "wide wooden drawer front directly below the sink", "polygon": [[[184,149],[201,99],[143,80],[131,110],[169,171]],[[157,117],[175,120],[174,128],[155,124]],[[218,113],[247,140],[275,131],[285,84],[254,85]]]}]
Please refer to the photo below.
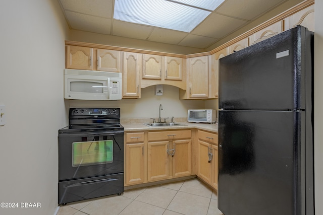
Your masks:
[{"label": "wide wooden drawer front directly below the sink", "polygon": [[148,141],[191,138],[191,130],[148,132]]}]

